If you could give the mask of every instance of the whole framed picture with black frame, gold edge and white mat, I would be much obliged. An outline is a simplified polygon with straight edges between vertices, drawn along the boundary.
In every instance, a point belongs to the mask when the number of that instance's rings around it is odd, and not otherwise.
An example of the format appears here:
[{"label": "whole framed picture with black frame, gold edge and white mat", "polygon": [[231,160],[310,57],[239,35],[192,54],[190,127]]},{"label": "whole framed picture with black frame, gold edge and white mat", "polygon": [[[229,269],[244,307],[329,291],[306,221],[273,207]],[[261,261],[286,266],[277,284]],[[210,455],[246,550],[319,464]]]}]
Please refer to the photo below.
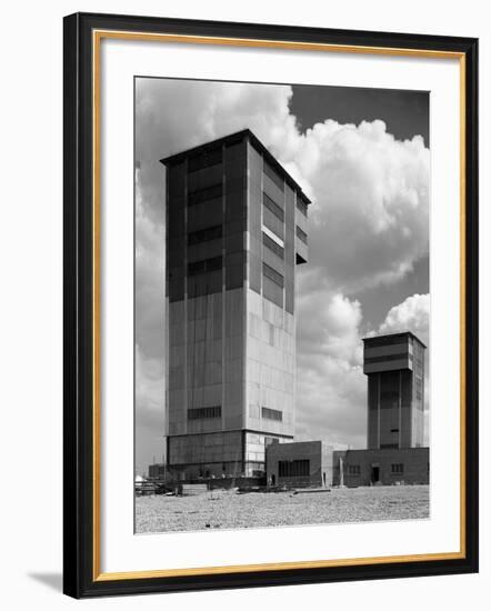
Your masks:
[{"label": "whole framed picture with black frame, gold edge and white mat", "polygon": [[478,570],[478,41],[64,19],[64,592]]}]

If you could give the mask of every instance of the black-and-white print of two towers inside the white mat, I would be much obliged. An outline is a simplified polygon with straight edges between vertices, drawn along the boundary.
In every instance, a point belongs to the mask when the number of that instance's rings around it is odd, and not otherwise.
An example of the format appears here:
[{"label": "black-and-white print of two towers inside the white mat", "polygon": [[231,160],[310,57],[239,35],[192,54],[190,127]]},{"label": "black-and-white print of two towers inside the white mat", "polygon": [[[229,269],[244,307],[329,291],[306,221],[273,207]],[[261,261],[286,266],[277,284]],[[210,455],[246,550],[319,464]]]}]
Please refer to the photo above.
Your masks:
[{"label": "black-and-white print of two towers inside the white mat", "polygon": [[430,518],[430,93],[134,78],[134,532]]}]

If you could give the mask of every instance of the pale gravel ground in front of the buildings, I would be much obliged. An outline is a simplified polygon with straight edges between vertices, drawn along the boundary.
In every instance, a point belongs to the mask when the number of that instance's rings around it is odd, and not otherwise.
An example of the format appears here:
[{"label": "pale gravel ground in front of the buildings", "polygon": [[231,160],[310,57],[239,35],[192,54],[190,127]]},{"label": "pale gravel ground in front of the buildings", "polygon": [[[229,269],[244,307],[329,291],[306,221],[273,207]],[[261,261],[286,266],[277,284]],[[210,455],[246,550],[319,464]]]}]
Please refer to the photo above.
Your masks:
[{"label": "pale gravel ground in front of the buildings", "polygon": [[428,485],[333,489],[330,492],[138,497],[137,532],[264,528],[429,518]]}]

